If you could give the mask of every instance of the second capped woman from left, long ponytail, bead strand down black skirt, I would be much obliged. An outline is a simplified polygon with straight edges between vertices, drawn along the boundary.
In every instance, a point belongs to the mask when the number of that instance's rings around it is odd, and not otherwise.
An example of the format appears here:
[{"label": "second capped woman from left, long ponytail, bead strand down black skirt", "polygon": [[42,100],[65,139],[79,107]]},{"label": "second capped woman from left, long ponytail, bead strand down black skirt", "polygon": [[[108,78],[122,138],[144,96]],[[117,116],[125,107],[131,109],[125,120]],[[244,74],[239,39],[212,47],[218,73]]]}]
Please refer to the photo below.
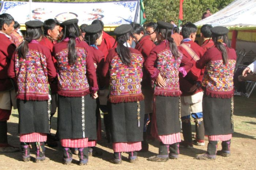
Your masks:
[{"label": "second capped woman from left, long ponytail, bead strand down black skirt", "polygon": [[70,148],[78,148],[80,165],[88,162],[88,137],[93,129],[98,83],[89,46],[79,40],[78,19],[61,23],[60,43],[53,47],[58,71],[58,132],[63,147],[63,164],[72,161]]}]

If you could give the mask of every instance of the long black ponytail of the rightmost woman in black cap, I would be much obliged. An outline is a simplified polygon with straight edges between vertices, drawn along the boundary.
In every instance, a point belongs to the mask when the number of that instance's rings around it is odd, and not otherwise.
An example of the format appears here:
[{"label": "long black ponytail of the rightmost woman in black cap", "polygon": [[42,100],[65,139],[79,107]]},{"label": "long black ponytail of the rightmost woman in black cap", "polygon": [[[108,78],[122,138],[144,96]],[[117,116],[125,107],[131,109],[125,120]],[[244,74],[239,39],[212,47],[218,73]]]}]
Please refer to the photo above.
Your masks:
[{"label": "long black ponytail of the rightmost woman in black cap", "polygon": [[228,51],[223,43],[225,43],[227,47],[230,47],[230,42],[228,41],[228,36],[227,35],[216,36],[215,34],[213,34],[212,39],[213,39],[213,42],[215,43],[215,47],[217,47],[217,49],[219,49],[219,51],[221,51],[223,64],[226,65],[228,63]]}]

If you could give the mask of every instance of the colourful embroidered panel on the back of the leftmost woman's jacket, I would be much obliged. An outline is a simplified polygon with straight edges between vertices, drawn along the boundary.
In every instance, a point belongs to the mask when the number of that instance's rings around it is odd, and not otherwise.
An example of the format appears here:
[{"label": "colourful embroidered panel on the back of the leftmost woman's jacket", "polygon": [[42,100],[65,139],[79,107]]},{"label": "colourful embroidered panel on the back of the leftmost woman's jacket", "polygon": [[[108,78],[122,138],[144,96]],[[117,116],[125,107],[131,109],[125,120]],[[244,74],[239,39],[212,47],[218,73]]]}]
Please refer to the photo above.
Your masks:
[{"label": "colourful embroidered panel on the back of the leftmost woman's jacket", "polygon": [[[18,98],[37,100],[36,96],[48,98],[49,83],[46,56],[40,51],[28,51],[26,58],[15,55],[15,74],[17,75]],[[21,97],[24,96],[24,97]],[[34,96],[34,97],[32,97]]]}]

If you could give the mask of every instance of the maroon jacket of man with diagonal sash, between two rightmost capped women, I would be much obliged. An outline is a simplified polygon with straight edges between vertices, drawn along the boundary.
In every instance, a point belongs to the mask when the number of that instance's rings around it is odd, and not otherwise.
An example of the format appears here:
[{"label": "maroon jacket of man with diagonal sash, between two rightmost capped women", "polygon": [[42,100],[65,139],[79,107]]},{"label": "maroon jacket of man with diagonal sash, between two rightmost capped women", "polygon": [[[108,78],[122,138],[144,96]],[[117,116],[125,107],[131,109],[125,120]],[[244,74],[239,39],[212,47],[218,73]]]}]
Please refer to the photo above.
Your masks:
[{"label": "maroon jacket of man with diagonal sash, between two rightmost capped women", "polygon": [[[183,43],[189,45],[190,48],[197,54],[198,57],[201,58],[204,55],[205,50],[199,45],[197,45],[197,43],[194,43],[192,40]],[[184,57],[187,57],[187,59],[193,63],[193,67],[187,73],[187,76],[180,76],[180,90],[182,91],[182,96],[191,96],[202,91],[202,88],[200,88],[197,89],[194,93],[189,93],[189,90],[191,89],[191,87],[193,87],[193,85],[195,85],[197,81],[199,83],[202,82],[204,72],[203,70],[195,66],[196,61],[193,59],[193,56],[189,55],[189,53],[182,46],[179,46],[178,49],[181,53],[183,53]]]}]

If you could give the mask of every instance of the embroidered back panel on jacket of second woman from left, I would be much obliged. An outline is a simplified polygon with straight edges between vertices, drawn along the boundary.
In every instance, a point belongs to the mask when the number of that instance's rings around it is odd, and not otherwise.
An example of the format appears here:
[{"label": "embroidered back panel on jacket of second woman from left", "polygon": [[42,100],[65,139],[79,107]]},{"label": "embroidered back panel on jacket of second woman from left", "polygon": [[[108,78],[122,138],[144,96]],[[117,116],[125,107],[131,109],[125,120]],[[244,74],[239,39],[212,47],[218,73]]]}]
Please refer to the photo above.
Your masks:
[{"label": "embroidered back panel on jacket of second woman from left", "polygon": [[86,77],[86,57],[87,51],[84,48],[76,48],[76,63],[69,65],[68,49],[63,49],[56,53],[58,64],[58,87],[60,91],[83,92],[89,90]]}]

